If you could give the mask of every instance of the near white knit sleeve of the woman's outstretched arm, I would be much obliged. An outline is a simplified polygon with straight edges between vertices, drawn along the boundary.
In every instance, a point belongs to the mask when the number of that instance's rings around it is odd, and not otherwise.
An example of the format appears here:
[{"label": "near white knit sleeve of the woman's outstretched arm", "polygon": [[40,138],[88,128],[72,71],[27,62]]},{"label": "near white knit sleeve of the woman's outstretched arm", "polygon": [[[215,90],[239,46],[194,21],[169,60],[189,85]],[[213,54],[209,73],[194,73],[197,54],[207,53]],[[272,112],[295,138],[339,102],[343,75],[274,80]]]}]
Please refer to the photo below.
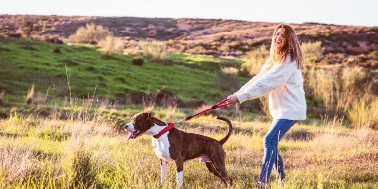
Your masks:
[{"label": "near white knit sleeve of the woman's outstretched arm", "polygon": [[273,91],[277,87],[284,85],[293,75],[297,65],[287,57],[285,62],[269,69],[261,78],[258,78],[252,85],[236,94],[239,102],[261,97]]}]

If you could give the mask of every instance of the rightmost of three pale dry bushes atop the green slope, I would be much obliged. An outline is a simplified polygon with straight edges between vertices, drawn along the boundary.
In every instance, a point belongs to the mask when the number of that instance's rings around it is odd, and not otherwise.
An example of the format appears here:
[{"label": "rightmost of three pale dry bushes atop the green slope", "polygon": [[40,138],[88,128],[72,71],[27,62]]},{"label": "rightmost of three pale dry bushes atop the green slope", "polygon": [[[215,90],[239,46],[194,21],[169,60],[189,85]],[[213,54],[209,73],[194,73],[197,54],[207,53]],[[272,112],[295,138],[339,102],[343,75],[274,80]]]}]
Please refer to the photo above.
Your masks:
[{"label": "rightmost of three pale dry bushes atop the green slope", "polygon": [[163,60],[168,56],[168,51],[164,42],[141,41],[139,42],[139,46],[142,49],[143,56],[148,59]]}]

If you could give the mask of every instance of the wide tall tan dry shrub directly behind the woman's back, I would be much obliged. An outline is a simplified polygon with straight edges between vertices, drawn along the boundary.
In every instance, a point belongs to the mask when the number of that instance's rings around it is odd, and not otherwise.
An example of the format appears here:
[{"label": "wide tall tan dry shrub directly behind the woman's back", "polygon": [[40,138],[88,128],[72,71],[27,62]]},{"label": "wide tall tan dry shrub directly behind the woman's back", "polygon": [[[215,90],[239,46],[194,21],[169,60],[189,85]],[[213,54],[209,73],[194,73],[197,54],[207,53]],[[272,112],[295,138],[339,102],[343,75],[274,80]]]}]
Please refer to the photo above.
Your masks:
[{"label": "wide tall tan dry shrub directly behind the woman's back", "polygon": [[358,67],[336,69],[304,69],[305,92],[308,99],[333,113],[344,115],[360,96],[368,93],[367,85],[374,85],[376,80],[369,82],[369,74]]}]

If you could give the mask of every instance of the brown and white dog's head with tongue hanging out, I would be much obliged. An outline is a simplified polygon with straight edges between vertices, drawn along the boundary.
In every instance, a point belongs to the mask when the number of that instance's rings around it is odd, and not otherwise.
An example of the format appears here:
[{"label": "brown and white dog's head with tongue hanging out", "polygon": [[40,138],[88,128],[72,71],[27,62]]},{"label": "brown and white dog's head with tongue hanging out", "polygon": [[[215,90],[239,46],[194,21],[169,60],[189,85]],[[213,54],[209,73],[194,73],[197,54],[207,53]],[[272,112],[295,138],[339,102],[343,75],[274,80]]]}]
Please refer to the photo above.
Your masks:
[{"label": "brown and white dog's head with tongue hanging out", "polygon": [[127,137],[127,141],[130,139],[136,139],[142,134],[155,135],[162,130],[162,126],[166,123],[151,116],[150,112],[141,112],[135,114],[130,123],[124,127],[128,132],[131,132]]}]

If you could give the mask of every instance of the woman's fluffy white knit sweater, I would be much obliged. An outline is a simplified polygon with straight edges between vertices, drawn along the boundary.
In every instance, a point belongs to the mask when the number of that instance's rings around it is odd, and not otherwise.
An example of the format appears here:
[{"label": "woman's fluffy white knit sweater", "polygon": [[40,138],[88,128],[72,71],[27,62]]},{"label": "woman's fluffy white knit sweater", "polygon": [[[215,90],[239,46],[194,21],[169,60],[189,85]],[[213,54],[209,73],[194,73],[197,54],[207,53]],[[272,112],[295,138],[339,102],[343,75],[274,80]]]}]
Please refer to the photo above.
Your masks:
[{"label": "woman's fluffy white knit sweater", "polygon": [[274,63],[269,70],[261,71],[234,95],[242,103],[269,93],[269,111],[273,119],[305,120],[306,100],[302,71],[290,55],[284,63]]}]

